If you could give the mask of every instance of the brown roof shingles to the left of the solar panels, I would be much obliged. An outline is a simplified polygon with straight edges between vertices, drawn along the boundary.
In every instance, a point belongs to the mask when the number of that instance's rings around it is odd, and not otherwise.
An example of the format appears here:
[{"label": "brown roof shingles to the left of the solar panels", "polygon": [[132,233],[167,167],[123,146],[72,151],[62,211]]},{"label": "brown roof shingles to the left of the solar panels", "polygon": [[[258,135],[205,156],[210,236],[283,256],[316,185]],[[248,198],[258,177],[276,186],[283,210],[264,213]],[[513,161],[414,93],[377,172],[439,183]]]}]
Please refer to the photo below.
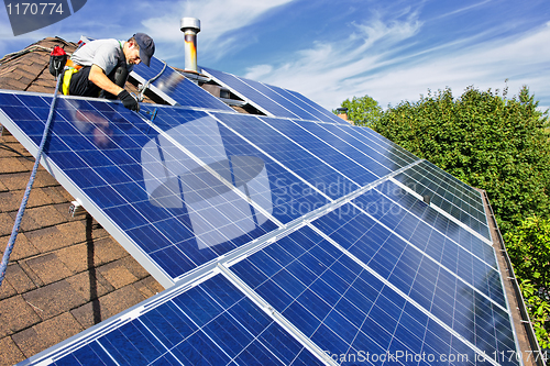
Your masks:
[{"label": "brown roof shingles to the left of the solar panels", "polygon": [[[65,45],[45,38],[36,45]],[[0,65],[0,89],[53,93],[50,52],[35,48]],[[135,89],[128,85],[128,89]],[[9,241],[34,158],[0,136],[0,255]],[[0,287],[0,365],[44,351],[164,288],[91,217],[69,214],[73,197],[41,167]]]}]

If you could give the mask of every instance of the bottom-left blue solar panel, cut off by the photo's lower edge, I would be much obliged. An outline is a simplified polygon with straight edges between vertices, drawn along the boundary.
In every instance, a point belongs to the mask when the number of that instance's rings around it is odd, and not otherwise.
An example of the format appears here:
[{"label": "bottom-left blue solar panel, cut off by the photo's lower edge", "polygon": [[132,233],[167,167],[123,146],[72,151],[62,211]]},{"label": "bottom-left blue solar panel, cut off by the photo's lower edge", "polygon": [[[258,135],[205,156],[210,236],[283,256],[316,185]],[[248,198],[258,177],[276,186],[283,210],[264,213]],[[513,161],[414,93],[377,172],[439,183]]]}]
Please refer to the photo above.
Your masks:
[{"label": "bottom-left blue solar panel, cut off by the photo's lower edge", "polygon": [[322,365],[221,275],[116,329],[98,332],[52,365]]}]

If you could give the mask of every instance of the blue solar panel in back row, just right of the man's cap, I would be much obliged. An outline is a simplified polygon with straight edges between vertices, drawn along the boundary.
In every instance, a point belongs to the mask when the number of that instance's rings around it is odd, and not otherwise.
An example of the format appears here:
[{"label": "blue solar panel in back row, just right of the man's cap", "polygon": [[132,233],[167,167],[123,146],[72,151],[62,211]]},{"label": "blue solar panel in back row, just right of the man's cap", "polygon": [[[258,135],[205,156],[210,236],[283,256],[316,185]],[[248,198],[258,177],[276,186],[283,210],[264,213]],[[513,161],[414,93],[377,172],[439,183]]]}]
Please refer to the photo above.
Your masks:
[{"label": "blue solar panel in back row, just right of the man's cap", "polygon": [[[147,80],[157,76],[163,68],[164,64],[157,58],[152,57],[150,67],[139,64],[134,66],[131,76],[144,85]],[[169,66],[166,66],[161,76],[152,82],[151,90],[170,104],[177,103],[179,106],[222,111],[232,110],[218,98],[195,85]]]}]

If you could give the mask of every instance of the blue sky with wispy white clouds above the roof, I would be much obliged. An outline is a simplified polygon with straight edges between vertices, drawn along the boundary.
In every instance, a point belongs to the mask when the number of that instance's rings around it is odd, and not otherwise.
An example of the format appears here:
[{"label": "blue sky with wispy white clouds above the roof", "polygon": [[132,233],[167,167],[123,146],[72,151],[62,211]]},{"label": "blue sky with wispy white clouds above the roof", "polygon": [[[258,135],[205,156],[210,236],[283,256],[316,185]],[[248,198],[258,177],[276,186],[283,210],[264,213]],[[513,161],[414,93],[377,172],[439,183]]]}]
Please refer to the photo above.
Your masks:
[{"label": "blue sky with wispy white clouds above the roof", "polygon": [[183,16],[201,21],[199,65],[297,90],[327,109],[365,95],[385,108],[446,87],[458,97],[472,85],[507,85],[509,96],[527,85],[550,108],[548,0],[88,0],[16,37],[2,8],[0,54],[46,36],[145,32],[158,58],[183,67]]}]

